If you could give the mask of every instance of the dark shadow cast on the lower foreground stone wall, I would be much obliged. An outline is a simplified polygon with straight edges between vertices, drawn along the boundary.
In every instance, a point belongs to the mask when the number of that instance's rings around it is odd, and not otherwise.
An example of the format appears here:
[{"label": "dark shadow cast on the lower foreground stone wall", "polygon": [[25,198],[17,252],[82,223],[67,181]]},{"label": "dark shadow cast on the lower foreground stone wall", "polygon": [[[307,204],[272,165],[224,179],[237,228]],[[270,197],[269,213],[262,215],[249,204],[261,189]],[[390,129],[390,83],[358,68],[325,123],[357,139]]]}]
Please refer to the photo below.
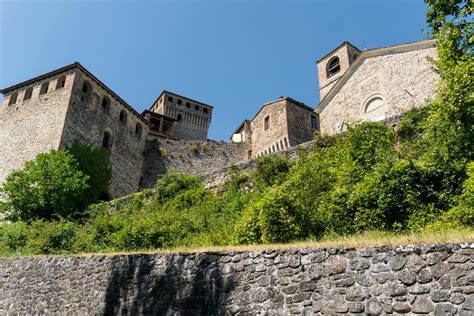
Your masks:
[{"label": "dark shadow cast on the lower foreground stone wall", "polygon": [[222,268],[210,253],[116,256],[104,314],[224,314],[236,281]]}]

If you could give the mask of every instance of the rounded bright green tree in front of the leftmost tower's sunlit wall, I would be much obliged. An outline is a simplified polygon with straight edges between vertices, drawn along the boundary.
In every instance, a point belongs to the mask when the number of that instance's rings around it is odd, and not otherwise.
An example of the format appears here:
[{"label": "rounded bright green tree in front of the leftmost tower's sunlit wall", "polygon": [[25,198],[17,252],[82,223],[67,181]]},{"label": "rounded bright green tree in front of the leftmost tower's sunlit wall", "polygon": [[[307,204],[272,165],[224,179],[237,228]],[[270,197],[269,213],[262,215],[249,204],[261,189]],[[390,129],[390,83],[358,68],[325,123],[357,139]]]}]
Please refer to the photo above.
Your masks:
[{"label": "rounded bright green tree in front of the leftmost tower's sunlit wall", "polygon": [[7,177],[1,188],[6,198],[3,212],[12,220],[74,216],[85,207],[88,180],[70,153],[38,154]]}]

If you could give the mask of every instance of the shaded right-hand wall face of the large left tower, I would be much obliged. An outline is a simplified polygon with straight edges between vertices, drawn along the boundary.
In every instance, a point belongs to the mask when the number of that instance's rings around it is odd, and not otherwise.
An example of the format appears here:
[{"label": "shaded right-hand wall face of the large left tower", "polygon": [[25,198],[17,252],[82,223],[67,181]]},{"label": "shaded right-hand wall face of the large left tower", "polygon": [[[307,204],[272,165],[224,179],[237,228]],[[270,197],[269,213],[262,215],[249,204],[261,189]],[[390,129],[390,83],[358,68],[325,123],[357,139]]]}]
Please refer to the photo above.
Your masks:
[{"label": "shaded right-hand wall face of the large left tower", "polygon": [[[92,92],[82,92],[87,81]],[[108,97],[107,108],[102,107],[102,99]],[[121,122],[120,112],[125,111],[126,119]],[[141,133],[136,133],[137,124]],[[64,124],[61,147],[79,140],[95,147],[102,146],[104,132],[111,134],[110,163],[112,179],[108,193],[111,198],[138,191],[143,164],[143,150],[148,134],[146,122],[131,111],[122,101],[103,89],[94,80],[77,70],[71,104]]]}]

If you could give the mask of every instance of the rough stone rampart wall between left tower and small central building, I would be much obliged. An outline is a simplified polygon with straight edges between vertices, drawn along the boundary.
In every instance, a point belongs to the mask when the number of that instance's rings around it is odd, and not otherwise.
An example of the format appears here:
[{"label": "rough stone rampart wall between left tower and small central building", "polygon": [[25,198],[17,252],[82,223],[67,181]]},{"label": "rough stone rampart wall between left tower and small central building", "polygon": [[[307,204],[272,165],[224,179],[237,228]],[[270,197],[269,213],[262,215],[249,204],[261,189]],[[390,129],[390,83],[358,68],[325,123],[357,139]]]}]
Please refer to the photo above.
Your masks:
[{"label": "rough stone rampart wall between left tower and small central building", "polygon": [[217,141],[174,141],[149,136],[144,150],[140,187],[153,187],[168,170],[205,175],[247,159],[247,144]]}]

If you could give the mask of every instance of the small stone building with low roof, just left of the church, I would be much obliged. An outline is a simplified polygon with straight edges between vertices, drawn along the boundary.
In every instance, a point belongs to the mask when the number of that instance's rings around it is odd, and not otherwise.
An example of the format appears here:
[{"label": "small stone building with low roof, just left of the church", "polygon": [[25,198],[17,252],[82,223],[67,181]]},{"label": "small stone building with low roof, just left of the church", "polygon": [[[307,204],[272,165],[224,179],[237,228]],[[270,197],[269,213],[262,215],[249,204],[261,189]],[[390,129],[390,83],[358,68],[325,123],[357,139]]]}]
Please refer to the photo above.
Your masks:
[{"label": "small stone building with low roof, just left of the church", "polygon": [[305,104],[288,97],[268,102],[250,121],[245,120],[232,135],[249,144],[249,157],[286,150],[307,142],[317,129],[317,114]]}]

